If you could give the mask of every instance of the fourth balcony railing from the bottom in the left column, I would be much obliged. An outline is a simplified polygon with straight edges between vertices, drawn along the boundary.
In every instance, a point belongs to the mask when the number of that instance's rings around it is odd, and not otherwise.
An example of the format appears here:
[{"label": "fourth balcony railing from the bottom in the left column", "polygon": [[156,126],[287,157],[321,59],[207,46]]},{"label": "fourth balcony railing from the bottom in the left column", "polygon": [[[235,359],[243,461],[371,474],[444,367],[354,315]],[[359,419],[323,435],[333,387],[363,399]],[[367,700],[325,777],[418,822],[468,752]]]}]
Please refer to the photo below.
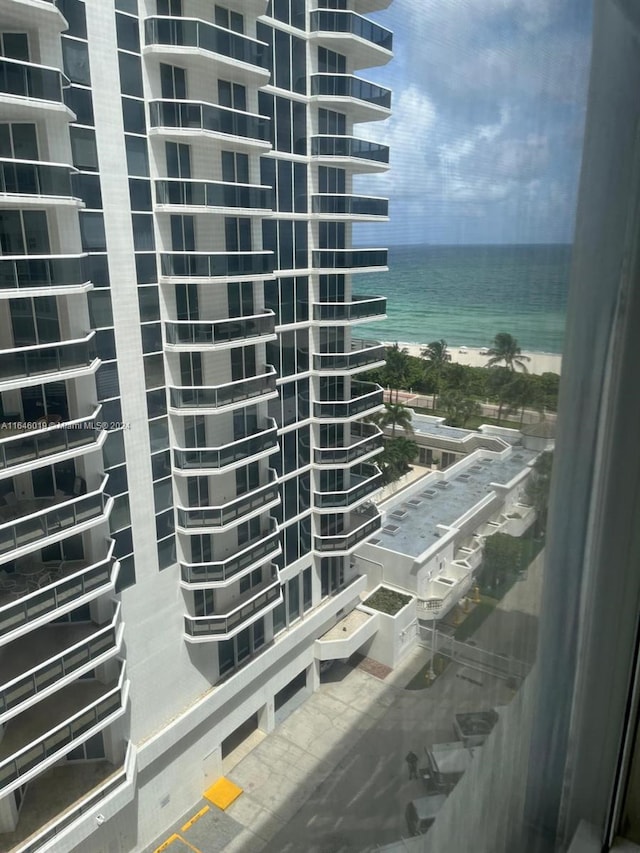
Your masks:
[{"label": "fourth balcony railing from the bottom in the left column", "polygon": [[[107,555],[97,562],[43,563],[39,566],[40,571],[29,572],[24,592],[20,592],[22,578],[16,570],[3,584],[7,588],[13,586],[13,589],[8,593],[0,591],[0,601],[7,597],[15,598],[0,606],[0,637],[57,611],[67,612],[84,596],[98,595],[113,586],[118,570],[118,563],[113,560],[114,547],[114,542],[110,542]],[[28,592],[31,583],[36,585],[36,589]]]}]

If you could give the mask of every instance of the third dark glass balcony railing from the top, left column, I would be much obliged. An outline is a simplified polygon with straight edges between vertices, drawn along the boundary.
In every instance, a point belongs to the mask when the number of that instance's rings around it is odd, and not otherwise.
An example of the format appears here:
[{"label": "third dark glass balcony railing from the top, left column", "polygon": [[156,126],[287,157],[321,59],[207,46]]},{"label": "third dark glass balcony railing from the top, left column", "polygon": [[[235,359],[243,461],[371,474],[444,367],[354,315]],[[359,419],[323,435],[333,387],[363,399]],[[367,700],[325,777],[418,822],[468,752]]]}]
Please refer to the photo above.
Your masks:
[{"label": "third dark glass balcony railing from the top, left column", "polygon": [[[12,255],[0,257],[0,290],[86,286],[87,255]],[[36,294],[37,295],[37,294]]]}]

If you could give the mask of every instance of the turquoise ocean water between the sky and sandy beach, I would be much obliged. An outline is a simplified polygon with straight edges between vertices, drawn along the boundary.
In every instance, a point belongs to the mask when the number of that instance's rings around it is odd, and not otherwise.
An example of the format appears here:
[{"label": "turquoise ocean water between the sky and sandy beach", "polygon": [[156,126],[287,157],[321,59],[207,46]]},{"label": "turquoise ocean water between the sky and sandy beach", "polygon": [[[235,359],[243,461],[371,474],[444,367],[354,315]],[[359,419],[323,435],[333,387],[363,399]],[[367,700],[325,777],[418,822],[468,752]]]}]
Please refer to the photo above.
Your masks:
[{"label": "turquoise ocean water between the sky and sandy beach", "polygon": [[571,247],[393,246],[389,272],[354,276],[354,293],[387,297],[378,340],[489,346],[509,332],[523,350],[562,352]]}]

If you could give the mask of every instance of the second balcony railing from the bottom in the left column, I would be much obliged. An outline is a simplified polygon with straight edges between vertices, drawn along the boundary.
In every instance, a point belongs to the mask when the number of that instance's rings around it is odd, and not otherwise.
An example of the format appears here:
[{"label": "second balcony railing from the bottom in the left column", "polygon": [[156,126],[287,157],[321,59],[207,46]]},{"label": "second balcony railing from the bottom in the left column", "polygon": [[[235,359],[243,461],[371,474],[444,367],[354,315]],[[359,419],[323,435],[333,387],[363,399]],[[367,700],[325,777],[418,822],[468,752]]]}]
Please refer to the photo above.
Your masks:
[{"label": "second balcony railing from the bottom in the left column", "polygon": [[[122,664],[118,681],[115,684],[102,685],[101,696],[72,714],[63,723],[54,725],[50,730],[36,736],[33,741],[1,760],[0,793],[12,783],[27,776],[29,771],[39,764],[47,762],[49,765],[56,758],[62,757],[69,751],[69,747],[73,748],[72,744],[76,741],[82,743],[86,740],[83,735],[97,729],[100,723],[107,725],[110,717],[114,717],[117,712],[124,709],[125,683],[125,669]],[[5,736],[5,743],[6,740]],[[12,787],[16,786],[12,785]]]}]

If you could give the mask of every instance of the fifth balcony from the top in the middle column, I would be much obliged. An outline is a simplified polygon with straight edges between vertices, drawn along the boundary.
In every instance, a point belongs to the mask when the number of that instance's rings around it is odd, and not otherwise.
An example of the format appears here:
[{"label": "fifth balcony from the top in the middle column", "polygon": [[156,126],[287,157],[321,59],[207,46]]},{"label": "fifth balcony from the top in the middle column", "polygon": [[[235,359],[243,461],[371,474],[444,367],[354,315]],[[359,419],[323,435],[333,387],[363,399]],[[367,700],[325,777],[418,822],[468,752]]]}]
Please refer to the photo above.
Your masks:
[{"label": "fifth balcony from the top in the middle column", "polygon": [[228,317],[224,320],[171,320],[164,324],[166,349],[177,352],[190,350],[228,349],[276,340],[275,314],[263,311],[250,317]]}]

